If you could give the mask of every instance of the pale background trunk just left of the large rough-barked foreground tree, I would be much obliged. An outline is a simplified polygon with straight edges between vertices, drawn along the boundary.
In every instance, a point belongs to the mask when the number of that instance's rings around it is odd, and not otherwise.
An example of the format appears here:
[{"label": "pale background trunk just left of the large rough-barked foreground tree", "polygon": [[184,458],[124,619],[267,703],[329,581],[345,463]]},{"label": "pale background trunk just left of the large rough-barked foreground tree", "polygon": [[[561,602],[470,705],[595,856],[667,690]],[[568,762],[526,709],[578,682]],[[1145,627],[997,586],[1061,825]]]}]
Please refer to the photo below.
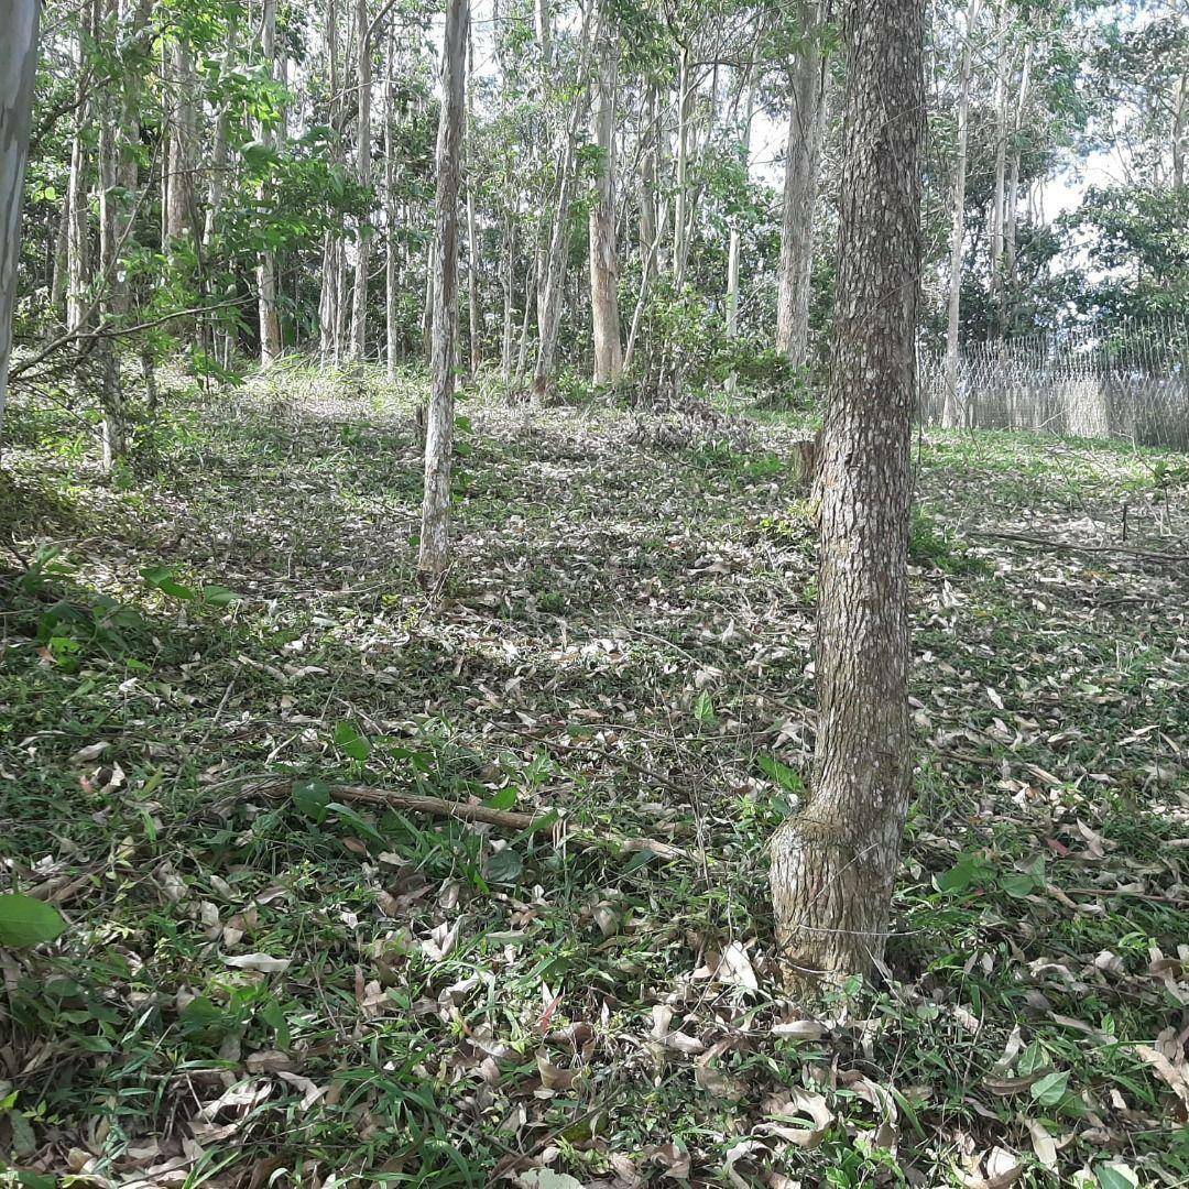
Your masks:
[{"label": "pale background trunk just left of the large rough-barked foreground tree", "polygon": [[776,295],[776,350],[798,366],[805,363],[810,333],[810,278],[813,272],[813,216],[817,210],[825,74],[822,17],[817,0],[800,8],[803,46],[793,63],[785,158]]}]

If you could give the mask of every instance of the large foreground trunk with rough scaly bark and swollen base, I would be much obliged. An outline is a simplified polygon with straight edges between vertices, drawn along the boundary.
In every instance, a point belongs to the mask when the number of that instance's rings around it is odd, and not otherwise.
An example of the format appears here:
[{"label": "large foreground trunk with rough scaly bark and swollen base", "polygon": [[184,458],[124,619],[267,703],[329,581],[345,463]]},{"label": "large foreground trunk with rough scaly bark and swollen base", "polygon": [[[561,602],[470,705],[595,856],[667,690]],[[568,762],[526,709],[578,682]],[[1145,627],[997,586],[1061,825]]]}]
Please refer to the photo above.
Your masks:
[{"label": "large foreground trunk with rough scaly bark and swollen base", "polygon": [[820,473],[812,792],[772,842],[794,988],[883,952],[908,804],[907,528],[920,279],[921,0],[849,0],[838,288]]}]

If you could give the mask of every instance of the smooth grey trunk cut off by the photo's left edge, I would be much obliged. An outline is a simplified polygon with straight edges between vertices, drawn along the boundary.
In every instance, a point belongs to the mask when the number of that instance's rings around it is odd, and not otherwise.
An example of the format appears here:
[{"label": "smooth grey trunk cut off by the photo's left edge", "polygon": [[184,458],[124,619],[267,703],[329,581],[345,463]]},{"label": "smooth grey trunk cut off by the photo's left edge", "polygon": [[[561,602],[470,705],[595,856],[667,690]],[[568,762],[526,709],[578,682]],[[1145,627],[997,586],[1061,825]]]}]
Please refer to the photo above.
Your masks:
[{"label": "smooth grey trunk cut off by the photo's left edge", "polygon": [[[0,435],[8,394],[21,196],[37,74],[39,0],[0,0]],[[2,441],[2,436],[0,436]]]}]

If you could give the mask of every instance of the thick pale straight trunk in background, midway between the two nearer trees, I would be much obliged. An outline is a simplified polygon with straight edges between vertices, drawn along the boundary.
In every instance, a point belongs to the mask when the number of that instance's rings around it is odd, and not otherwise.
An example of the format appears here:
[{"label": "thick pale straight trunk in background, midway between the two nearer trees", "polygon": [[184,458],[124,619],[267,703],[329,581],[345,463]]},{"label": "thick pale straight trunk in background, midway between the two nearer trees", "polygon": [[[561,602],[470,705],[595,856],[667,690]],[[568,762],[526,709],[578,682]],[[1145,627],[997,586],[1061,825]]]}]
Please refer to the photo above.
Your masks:
[{"label": "thick pale straight trunk in background, midway between the two nearer trees", "polygon": [[594,83],[591,133],[599,149],[594,201],[590,210],[591,326],[594,338],[594,383],[612,384],[623,375],[619,339],[619,264],[615,243],[615,94],[618,55],[606,0],[596,20],[599,69]]}]

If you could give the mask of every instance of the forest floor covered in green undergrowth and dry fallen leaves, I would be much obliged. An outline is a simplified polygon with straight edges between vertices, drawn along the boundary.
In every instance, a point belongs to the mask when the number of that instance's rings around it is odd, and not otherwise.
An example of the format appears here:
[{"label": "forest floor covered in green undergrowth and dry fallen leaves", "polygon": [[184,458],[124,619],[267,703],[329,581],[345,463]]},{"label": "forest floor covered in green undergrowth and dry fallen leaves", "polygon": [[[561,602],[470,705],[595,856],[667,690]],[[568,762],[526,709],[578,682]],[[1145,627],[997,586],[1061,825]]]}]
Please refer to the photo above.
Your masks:
[{"label": "forest floor covered in green undergrowth and dry fallen leaves", "polygon": [[13,413],[0,858],[69,920],[0,963],[25,1182],[1185,1184],[1185,458],[918,443],[891,979],[809,1006],[804,432],[464,400],[430,599],[421,395],[175,392],[111,478]]}]

